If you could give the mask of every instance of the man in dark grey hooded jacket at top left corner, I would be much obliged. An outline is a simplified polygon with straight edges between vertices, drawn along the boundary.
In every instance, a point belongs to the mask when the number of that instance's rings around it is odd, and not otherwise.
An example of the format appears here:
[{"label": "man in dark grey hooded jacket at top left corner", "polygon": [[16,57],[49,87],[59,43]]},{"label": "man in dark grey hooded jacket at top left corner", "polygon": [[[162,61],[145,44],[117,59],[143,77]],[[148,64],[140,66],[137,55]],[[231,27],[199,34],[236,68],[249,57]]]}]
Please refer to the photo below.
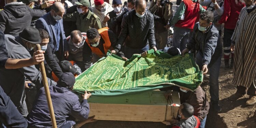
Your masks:
[{"label": "man in dark grey hooded jacket at top left corner", "polygon": [[4,10],[0,12],[0,30],[4,34],[18,35],[26,27],[29,27],[33,17],[45,14],[42,10],[29,8],[17,0],[6,0]]}]

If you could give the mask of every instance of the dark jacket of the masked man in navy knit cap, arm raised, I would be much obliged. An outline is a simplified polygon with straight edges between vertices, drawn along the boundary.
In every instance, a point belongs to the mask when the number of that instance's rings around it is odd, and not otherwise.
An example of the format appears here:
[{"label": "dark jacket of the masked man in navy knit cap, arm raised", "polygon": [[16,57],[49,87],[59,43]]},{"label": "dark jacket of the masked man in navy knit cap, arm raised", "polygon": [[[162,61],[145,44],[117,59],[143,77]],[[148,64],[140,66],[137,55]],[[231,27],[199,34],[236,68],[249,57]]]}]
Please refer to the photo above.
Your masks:
[{"label": "dark jacket of the masked man in navy knit cap, arm raised", "polygon": [[117,17],[122,17],[123,18],[124,14],[127,13],[127,12],[128,12],[127,9],[122,10],[122,13],[119,16],[116,15],[114,10],[108,13],[109,17],[110,17],[110,20],[108,21],[109,29],[112,30],[116,34],[117,37],[119,36],[119,34],[122,30],[122,28],[121,28],[122,20],[121,20],[121,23],[119,23],[117,25],[112,25],[112,26],[110,26],[110,25]]}]

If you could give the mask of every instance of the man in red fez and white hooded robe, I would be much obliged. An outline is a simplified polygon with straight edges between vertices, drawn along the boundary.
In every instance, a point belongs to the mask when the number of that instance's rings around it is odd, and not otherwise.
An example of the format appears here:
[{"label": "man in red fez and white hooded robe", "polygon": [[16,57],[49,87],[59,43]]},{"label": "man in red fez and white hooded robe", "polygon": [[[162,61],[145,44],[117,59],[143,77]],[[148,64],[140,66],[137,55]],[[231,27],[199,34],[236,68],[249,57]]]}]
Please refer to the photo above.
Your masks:
[{"label": "man in red fez and white hooded robe", "polygon": [[107,27],[107,22],[110,19],[107,14],[114,9],[109,3],[104,2],[103,0],[94,0],[94,4],[95,5],[90,7],[90,10],[100,18],[101,27]]}]

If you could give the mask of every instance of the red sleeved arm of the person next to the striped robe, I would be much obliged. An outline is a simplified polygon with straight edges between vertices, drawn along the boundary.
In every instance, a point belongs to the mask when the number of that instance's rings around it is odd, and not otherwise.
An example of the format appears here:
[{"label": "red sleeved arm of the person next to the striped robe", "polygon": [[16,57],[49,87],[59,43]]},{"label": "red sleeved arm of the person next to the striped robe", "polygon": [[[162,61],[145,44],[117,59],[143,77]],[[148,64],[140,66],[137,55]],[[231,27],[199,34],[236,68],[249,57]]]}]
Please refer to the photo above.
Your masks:
[{"label": "red sleeved arm of the person next to the striped robe", "polygon": [[231,2],[230,2],[230,0],[225,0],[224,12],[223,12],[223,15],[218,23],[219,24],[225,23],[227,21],[228,17],[230,16],[230,13],[231,13]]}]

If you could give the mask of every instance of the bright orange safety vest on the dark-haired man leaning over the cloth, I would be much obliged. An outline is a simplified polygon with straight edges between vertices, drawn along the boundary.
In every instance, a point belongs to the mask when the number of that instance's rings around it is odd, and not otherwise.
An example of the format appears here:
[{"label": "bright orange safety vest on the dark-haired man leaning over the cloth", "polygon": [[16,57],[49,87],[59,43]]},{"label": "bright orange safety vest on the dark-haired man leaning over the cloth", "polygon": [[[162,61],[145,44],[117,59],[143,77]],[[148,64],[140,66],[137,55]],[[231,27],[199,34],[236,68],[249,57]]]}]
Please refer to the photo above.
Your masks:
[{"label": "bright orange safety vest on the dark-haired man leaning over the cloth", "polygon": [[99,29],[99,33],[100,33],[100,36],[101,38],[103,38],[104,40],[104,44],[103,44],[103,47],[104,47],[104,53],[102,53],[100,51],[100,49],[98,47],[93,47],[91,46],[89,43],[88,43],[88,38],[85,40],[86,43],[89,45],[89,47],[91,48],[91,52],[93,52],[94,54],[98,55],[99,57],[103,57],[106,55],[106,53],[108,52],[108,50],[110,49],[111,47],[111,42],[109,40],[109,32],[108,32],[109,28],[108,27],[105,27],[105,28],[101,28]]}]

